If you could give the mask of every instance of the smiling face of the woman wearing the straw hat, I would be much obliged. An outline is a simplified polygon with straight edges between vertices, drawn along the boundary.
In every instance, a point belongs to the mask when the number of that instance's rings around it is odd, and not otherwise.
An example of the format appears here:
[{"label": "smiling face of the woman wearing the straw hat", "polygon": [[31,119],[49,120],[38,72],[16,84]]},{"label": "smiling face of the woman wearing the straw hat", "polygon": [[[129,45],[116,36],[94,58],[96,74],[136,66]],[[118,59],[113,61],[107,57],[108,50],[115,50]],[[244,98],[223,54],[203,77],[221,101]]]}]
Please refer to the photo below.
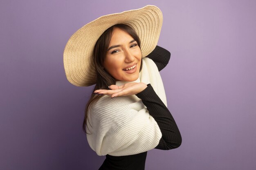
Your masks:
[{"label": "smiling face of the woman wearing the straw hat", "polygon": [[[103,67],[117,80],[133,82],[139,78],[141,50],[137,42],[125,31],[115,28]],[[134,67],[131,69],[130,67]],[[128,71],[124,71],[128,68]]]}]

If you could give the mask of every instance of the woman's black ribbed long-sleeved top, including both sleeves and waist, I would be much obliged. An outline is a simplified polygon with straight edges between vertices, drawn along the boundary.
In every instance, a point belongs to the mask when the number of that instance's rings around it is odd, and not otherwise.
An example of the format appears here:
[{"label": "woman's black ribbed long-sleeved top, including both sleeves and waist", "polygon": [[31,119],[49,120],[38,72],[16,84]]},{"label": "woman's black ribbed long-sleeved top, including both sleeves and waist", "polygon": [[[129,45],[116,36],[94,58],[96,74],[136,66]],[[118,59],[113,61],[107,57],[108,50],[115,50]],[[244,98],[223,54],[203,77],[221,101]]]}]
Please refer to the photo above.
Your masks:
[{"label": "woman's black ribbed long-sleeved top, including both sleeves and waist", "polygon": [[[152,53],[146,57],[152,59],[157,65],[158,71],[161,71],[168,64],[170,56],[171,53],[169,51],[156,46]],[[178,148],[182,142],[180,131],[173,116],[155,93],[151,84],[147,84],[147,87],[137,93],[136,96],[142,100],[162,132],[162,138],[155,148],[161,150]],[[106,155],[106,159],[99,170],[144,170],[146,156],[147,152],[119,157]]]}]

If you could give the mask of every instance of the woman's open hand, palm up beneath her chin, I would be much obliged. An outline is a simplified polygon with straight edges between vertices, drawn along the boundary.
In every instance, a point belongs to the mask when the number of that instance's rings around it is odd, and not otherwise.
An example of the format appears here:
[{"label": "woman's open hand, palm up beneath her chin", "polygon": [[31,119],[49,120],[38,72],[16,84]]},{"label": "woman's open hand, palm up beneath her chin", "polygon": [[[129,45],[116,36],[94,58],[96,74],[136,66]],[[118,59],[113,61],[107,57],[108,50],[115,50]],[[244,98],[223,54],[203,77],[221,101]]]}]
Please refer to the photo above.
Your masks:
[{"label": "woman's open hand, palm up beneath her chin", "polygon": [[128,96],[136,95],[137,93],[143,91],[147,85],[145,83],[126,83],[122,86],[111,85],[109,88],[111,90],[99,89],[94,91],[94,93],[99,93],[103,95],[111,95],[111,98],[117,96]]}]

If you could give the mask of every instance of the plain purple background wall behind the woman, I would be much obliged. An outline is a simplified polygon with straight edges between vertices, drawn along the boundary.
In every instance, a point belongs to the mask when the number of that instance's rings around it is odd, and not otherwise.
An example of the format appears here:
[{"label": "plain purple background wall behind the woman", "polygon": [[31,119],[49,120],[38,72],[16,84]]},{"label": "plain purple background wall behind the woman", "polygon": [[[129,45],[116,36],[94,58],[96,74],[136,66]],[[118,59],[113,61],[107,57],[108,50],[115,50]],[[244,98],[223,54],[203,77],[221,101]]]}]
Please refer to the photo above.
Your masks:
[{"label": "plain purple background wall behind the woman", "polygon": [[182,145],[148,151],[146,170],[255,170],[255,0],[1,1],[1,170],[99,168],[82,132],[93,87],[67,81],[63,50],[84,24],[147,4],[164,15],[160,73]]}]

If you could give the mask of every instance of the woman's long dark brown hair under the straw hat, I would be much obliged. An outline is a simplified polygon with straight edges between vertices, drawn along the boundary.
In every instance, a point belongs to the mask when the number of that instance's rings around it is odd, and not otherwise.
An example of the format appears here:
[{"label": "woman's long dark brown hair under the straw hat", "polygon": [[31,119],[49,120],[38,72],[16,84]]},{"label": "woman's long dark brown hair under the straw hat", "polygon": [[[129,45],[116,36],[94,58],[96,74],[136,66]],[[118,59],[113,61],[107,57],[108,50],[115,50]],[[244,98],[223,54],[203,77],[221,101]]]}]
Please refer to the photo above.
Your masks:
[{"label": "woman's long dark brown hair under the straw hat", "polygon": [[[116,24],[111,26],[110,28],[108,28],[106,31],[104,31],[104,33],[99,37],[99,39],[97,40],[95,46],[94,46],[94,52],[93,52],[93,60],[94,60],[94,65],[95,65],[95,71],[97,74],[97,78],[96,78],[96,85],[93,89],[92,92],[98,90],[98,89],[107,89],[109,90],[108,86],[112,85],[112,84],[116,84],[116,79],[114,77],[112,77],[112,75],[110,75],[104,68],[103,68],[103,62],[106,58],[106,53],[108,50],[108,46],[110,44],[110,40],[112,37],[112,32],[115,28],[119,28],[123,31],[126,31],[128,34],[131,35],[132,38],[134,38],[134,40],[138,43],[138,46],[140,48],[140,39],[139,36],[137,35],[137,33],[135,32],[135,30],[126,24]],[[141,71],[142,68],[142,60],[141,60],[141,65],[139,68],[139,72]],[[97,102],[97,100],[99,100],[101,97],[101,95],[94,95],[92,94],[88,103],[86,104],[85,107],[85,117],[83,120],[83,131],[87,134],[86,132],[86,126],[88,127],[87,124],[87,119],[88,119],[88,110],[91,106],[92,103]],[[90,124],[90,121],[88,119],[88,122]]]}]

